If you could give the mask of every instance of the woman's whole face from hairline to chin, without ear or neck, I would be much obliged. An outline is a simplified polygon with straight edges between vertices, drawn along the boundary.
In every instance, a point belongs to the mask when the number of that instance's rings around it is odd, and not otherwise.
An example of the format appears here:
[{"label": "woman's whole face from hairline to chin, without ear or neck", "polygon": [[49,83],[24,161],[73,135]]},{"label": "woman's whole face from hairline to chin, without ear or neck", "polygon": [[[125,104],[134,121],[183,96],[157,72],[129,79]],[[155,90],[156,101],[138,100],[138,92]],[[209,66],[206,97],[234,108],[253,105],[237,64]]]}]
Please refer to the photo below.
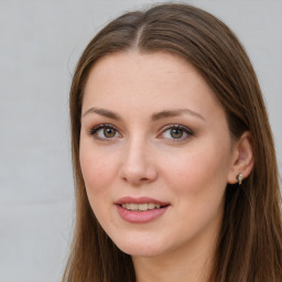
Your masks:
[{"label": "woman's whole face from hairline to chin, without ear or neck", "polygon": [[108,55],[90,70],[82,111],[86,191],[112,241],[145,257],[210,247],[232,142],[196,69],[167,53]]}]

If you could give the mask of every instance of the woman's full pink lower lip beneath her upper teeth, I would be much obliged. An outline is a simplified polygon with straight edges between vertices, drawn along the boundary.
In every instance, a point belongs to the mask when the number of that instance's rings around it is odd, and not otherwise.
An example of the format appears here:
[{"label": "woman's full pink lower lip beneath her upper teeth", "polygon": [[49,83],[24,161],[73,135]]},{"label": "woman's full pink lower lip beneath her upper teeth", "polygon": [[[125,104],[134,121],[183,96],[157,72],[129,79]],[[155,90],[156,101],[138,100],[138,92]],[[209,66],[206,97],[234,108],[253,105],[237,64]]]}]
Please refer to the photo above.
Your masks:
[{"label": "woman's full pink lower lip beneath her upper teeth", "polygon": [[116,205],[116,206],[117,206],[118,213],[121,216],[121,218],[131,224],[150,223],[150,221],[161,217],[169,208],[169,206],[166,206],[166,207],[162,207],[162,208],[139,212],[139,210],[129,210],[119,205]]}]

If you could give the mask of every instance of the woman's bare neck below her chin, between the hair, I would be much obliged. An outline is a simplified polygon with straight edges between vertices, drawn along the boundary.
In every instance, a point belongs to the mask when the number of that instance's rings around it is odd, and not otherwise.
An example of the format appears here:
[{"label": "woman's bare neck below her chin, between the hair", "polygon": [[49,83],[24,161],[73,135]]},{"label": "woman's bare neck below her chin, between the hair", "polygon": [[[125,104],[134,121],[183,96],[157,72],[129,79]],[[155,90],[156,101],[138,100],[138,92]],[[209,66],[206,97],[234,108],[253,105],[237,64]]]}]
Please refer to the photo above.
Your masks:
[{"label": "woman's bare neck below her chin, between the hair", "polygon": [[167,251],[158,257],[132,257],[137,282],[208,282],[215,250],[214,243]]}]

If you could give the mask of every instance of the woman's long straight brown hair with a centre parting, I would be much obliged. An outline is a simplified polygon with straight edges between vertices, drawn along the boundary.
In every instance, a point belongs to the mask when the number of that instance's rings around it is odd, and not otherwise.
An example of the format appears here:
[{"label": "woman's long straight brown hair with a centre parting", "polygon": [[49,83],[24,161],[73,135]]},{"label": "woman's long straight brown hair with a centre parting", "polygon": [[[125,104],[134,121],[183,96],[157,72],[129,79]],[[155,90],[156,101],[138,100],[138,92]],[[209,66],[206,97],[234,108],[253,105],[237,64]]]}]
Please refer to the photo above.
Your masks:
[{"label": "woman's long straight brown hair with a centre parting", "polygon": [[253,140],[254,167],[241,186],[227,184],[223,227],[210,281],[281,282],[281,195],[271,129],[252,65],[235,34],[212,14],[166,3],[110,22],[84,51],[70,88],[76,226],[63,281],[132,282],[131,257],[97,221],[87,199],[78,151],[84,86],[100,57],[137,48],[169,52],[194,65],[221,102],[230,133]]}]

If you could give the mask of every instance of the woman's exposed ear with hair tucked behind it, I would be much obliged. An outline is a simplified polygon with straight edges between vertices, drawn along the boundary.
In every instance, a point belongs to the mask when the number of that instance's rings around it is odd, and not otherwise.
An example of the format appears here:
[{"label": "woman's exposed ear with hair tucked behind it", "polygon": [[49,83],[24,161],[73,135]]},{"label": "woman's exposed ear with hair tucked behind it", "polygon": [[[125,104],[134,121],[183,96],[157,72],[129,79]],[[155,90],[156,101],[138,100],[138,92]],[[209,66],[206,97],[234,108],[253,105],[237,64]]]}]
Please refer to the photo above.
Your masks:
[{"label": "woman's exposed ear with hair tucked behind it", "polygon": [[228,183],[238,182],[237,175],[242,174],[242,178],[249,176],[253,167],[252,137],[249,131],[242,133],[240,139],[234,144],[232,163],[228,174]]}]

